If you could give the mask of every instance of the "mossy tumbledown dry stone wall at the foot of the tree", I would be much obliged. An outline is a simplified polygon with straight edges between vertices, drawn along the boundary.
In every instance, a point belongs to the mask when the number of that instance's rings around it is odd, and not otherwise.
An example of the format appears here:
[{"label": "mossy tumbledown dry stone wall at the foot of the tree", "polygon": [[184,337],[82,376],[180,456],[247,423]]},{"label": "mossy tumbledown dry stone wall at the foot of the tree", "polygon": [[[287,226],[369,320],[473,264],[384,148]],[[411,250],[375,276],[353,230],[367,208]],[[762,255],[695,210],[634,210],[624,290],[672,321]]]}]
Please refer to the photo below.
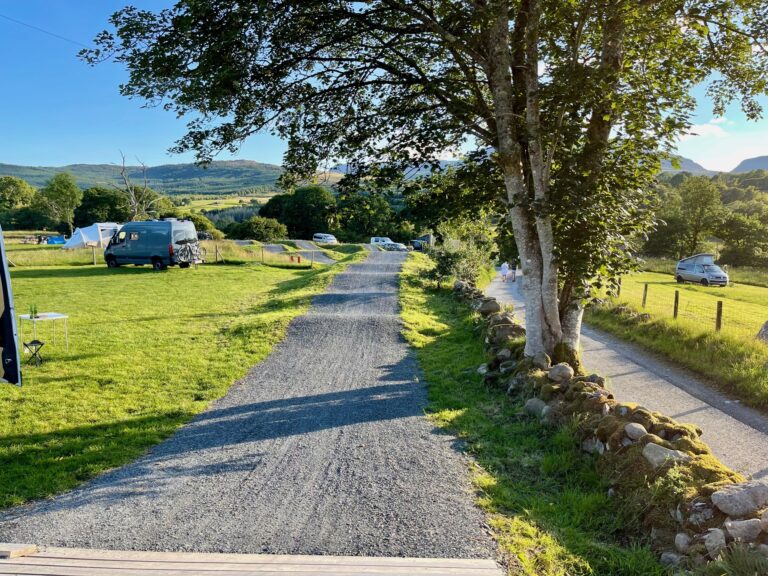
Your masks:
[{"label": "mossy tumbledown dry stone wall at the foot of the tree", "polygon": [[524,400],[548,426],[578,422],[581,449],[594,455],[609,495],[636,510],[660,560],[686,570],[717,559],[732,543],[768,557],[768,481],[747,480],[723,465],[691,424],[621,402],[597,374],[576,374],[540,354],[524,358],[525,329],[514,314],[472,284],[454,293],[483,322],[486,383]]}]

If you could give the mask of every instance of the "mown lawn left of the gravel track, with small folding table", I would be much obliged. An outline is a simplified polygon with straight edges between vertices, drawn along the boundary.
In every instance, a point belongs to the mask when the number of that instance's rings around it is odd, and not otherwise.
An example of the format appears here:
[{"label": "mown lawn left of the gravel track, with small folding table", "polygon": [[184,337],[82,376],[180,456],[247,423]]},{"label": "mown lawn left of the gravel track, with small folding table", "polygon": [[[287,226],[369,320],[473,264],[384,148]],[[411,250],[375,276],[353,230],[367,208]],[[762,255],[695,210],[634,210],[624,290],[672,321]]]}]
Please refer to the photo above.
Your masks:
[{"label": "mown lawn left of the gravel track, with small folding table", "polygon": [[39,324],[45,363],[24,367],[23,388],[0,387],[0,507],[70,489],[167,437],[266,357],[342,268],[13,269],[17,313],[69,314],[70,349]]}]

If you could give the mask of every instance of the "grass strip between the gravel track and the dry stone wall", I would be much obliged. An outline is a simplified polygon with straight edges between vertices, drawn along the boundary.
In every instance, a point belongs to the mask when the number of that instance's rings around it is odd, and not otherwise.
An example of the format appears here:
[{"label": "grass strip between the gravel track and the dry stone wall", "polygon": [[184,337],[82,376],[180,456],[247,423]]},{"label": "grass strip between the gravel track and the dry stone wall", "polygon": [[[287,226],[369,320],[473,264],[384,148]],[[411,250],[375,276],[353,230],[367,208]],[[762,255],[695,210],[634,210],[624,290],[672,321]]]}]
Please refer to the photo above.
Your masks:
[{"label": "grass strip between the gravel track and the dry stone wall", "polygon": [[542,427],[519,402],[482,384],[474,316],[449,291],[425,283],[429,266],[413,254],[403,269],[404,333],[426,377],[430,417],[463,439],[478,464],[477,501],[510,574],[662,574],[647,548],[620,545],[621,515],[572,435]]}]

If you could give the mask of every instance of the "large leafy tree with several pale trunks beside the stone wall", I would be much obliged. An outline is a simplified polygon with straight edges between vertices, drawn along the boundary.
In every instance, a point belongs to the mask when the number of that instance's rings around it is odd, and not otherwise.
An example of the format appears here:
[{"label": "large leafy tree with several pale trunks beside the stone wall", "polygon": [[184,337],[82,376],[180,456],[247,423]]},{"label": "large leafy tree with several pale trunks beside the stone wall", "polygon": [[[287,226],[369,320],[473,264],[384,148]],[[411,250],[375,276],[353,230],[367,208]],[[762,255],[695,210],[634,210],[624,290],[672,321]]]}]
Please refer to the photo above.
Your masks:
[{"label": "large leafy tree with several pale trunks beside the stone wall", "polygon": [[766,89],[763,0],[180,0],[128,7],[85,51],[127,96],[189,114],[206,160],[272,130],[296,177],[322,159],[421,165],[487,150],[526,276],[526,353],[573,356],[589,286],[630,263],[690,89],[751,117]]}]

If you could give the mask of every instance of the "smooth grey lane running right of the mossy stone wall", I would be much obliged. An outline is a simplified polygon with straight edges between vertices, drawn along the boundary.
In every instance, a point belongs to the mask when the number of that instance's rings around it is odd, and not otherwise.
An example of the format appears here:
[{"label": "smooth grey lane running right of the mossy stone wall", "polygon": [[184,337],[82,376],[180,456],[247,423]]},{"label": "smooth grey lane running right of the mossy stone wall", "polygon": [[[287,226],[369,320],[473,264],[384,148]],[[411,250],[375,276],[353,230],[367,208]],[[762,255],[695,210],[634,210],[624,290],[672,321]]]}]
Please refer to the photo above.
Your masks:
[{"label": "smooth grey lane running right of the mossy stone wall", "polygon": [[[486,293],[514,304],[515,313],[524,318],[522,282],[522,276],[506,284],[497,277]],[[582,328],[581,345],[587,369],[607,377],[619,400],[696,424],[724,464],[747,476],[768,477],[768,417],[764,414],[715,390],[688,370],[595,328]]]}]

